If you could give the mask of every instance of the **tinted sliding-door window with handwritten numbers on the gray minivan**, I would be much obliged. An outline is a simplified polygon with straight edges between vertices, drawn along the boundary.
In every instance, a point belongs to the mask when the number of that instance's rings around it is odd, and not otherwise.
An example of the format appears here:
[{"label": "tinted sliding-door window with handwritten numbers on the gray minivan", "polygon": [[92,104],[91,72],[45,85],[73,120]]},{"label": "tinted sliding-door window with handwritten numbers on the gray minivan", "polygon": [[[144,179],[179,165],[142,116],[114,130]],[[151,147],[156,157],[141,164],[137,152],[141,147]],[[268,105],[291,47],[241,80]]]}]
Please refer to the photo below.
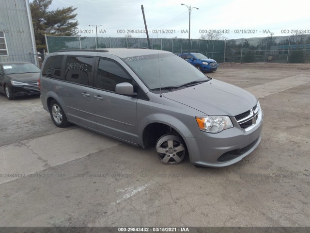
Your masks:
[{"label": "tinted sliding-door window with handwritten numbers on the gray minivan", "polygon": [[65,80],[83,85],[91,85],[93,64],[93,57],[68,56],[65,63]]}]

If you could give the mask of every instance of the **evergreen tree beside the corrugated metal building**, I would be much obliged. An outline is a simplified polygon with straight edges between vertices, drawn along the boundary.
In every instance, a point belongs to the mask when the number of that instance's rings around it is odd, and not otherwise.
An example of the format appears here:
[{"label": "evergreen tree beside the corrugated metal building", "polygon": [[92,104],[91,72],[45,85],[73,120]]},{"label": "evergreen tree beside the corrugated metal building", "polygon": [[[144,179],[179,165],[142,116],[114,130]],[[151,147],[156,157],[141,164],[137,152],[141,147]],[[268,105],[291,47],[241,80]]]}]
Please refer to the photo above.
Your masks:
[{"label": "evergreen tree beside the corrugated metal building", "polygon": [[30,3],[32,24],[38,50],[46,49],[44,34],[47,35],[78,35],[78,8],[63,7],[49,11],[52,0],[33,0]]}]

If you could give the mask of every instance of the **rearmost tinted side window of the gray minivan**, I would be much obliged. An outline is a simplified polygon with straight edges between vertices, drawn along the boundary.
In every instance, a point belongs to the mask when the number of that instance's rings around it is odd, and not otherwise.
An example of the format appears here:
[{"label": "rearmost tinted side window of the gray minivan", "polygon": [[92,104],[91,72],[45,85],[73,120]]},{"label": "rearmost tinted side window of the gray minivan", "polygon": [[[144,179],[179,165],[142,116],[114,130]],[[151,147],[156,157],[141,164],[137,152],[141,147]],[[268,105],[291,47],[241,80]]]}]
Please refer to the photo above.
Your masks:
[{"label": "rearmost tinted side window of the gray minivan", "polygon": [[52,56],[47,58],[42,70],[42,75],[55,79],[61,79],[62,58],[63,56]]}]

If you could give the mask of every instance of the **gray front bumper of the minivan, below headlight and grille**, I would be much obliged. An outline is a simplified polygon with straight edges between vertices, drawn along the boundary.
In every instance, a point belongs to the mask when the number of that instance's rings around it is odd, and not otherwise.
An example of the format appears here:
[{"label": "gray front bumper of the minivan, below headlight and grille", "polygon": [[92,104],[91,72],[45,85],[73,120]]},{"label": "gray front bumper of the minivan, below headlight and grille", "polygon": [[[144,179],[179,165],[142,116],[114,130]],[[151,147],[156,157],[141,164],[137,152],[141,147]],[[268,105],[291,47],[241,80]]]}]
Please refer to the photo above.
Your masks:
[{"label": "gray front bumper of the minivan, below headlight and grille", "polygon": [[220,133],[201,132],[200,138],[186,137],[190,162],[199,166],[232,165],[259,145],[263,130],[263,111],[255,127],[245,131],[238,126]]}]

